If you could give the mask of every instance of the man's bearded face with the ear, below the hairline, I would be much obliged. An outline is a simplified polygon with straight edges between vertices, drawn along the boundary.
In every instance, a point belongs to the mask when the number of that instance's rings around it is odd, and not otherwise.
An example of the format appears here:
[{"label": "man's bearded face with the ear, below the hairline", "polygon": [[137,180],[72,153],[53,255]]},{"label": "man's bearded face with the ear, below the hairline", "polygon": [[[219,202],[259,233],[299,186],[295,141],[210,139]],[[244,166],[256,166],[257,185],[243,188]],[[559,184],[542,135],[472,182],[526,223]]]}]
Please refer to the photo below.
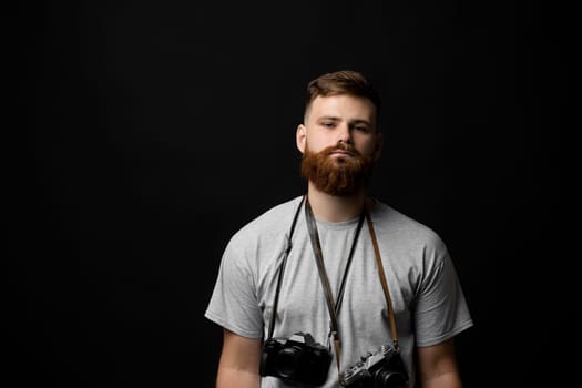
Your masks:
[{"label": "man's bearded face with the ear, below the hairline", "polygon": [[355,194],[379,157],[376,106],[351,95],[317,96],[297,129],[302,174],[331,195]]}]

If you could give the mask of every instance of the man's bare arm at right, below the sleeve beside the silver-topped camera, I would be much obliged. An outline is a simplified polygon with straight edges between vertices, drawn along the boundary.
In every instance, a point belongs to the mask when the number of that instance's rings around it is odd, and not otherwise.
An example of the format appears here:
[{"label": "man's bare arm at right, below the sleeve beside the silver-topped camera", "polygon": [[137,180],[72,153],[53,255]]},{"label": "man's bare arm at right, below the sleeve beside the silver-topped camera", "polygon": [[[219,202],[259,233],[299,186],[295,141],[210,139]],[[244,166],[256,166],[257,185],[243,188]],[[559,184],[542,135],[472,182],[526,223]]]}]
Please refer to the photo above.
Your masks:
[{"label": "man's bare arm at right, below the sleeve beside the silver-topped camera", "polygon": [[418,377],[421,388],[461,388],[452,338],[418,347]]}]

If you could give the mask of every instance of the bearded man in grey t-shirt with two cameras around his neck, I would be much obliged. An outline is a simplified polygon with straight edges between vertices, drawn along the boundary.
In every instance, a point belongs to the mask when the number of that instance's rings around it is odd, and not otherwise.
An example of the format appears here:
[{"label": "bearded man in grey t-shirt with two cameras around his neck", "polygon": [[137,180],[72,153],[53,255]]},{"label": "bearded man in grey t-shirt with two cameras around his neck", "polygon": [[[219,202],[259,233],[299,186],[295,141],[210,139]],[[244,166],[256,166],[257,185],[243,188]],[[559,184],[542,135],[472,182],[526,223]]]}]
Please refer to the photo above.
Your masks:
[{"label": "bearded man in grey t-shirt with two cameras around his neck", "polygon": [[366,196],[379,108],[361,73],[309,82],[307,194],[232,237],[205,313],[224,328],[217,388],[461,387],[453,337],[472,320],[447,248]]}]

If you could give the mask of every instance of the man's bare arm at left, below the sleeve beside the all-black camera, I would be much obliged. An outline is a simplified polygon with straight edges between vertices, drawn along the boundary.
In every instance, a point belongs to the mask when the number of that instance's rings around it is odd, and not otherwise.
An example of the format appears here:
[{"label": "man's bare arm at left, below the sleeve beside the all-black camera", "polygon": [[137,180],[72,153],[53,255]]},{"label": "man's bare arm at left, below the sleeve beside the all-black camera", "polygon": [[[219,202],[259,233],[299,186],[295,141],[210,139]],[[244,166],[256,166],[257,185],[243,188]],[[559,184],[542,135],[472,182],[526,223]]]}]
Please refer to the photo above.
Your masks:
[{"label": "man's bare arm at left, below the sleeve beside the all-black camera", "polygon": [[261,338],[246,338],[224,329],[216,388],[258,388],[261,351]]}]

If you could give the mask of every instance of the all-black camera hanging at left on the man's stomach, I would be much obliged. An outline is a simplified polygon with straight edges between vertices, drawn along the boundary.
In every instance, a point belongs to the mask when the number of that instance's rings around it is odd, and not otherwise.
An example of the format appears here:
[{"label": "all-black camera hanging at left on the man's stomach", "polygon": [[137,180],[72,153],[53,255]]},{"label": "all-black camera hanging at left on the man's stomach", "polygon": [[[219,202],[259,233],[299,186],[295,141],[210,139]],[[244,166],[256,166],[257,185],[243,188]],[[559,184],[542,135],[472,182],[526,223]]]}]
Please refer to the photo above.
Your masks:
[{"label": "all-black camera hanging at left on the man's stomach", "polygon": [[320,386],[327,379],[331,355],[310,334],[295,333],[289,338],[269,338],[263,346],[261,376]]}]

